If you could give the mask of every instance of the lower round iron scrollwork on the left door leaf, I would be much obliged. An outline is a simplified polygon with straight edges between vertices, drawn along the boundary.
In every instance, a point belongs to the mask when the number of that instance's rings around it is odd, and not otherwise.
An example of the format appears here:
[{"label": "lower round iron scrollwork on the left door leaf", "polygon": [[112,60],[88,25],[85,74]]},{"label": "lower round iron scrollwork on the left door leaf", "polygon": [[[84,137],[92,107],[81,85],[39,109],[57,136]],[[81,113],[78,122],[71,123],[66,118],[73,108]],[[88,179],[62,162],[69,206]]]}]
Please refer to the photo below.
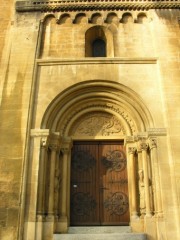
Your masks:
[{"label": "lower round iron scrollwork on the left door leaf", "polygon": [[74,215],[89,216],[96,209],[96,201],[89,193],[78,192],[72,196],[71,208]]}]

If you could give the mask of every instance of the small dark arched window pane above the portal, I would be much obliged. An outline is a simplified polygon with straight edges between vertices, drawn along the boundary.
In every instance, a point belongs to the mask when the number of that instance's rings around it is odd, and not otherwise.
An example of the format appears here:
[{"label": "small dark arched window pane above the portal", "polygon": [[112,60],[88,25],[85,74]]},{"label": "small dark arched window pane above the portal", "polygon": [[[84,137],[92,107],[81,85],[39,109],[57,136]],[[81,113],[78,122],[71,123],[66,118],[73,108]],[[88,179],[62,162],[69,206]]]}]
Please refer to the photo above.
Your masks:
[{"label": "small dark arched window pane above the portal", "polygon": [[106,57],[106,43],[102,39],[95,39],[92,43],[93,57]]}]

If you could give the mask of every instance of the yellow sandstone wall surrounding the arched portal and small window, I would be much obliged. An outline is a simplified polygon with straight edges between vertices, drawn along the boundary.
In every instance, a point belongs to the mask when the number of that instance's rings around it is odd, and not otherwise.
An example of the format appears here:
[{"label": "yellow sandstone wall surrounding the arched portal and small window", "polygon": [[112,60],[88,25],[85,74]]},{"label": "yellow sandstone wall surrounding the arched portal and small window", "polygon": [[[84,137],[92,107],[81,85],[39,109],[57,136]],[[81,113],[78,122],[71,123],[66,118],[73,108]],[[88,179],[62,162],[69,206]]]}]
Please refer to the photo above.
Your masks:
[{"label": "yellow sandstone wall surrounding the arched portal and small window", "polygon": [[[127,23],[86,16],[53,17],[39,30],[44,13],[15,13],[14,2],[3,1],[1,9],[1,105],[0,105],[0,239],[20,239],[26,205],[30,128],[40,128],[50,102],[67,87],[87,80],[116,81],[133,89],[149,108],[156,127],[168,134],[159,140],[159,169],[165,224],[159,224],[157,239],[180,235],[180,26],[176,10],[150,10],[143,23],[132,13]],[[123,19],[120,13],[119,19]],[[109,21],[109,22],[108,22]],[[134,23],[134,21],[136,23]],[[109,57],[140,59],[115,64],[83,60],[85,33],[103,25],[113,36]],[[109,24],[109,25],[108,25]],[[39,35],[38,35],[39,34]],[[38,39],[38,66],[34,60]],[[68,58],[68,60],[67,60]],[[72,58],[72,59],[70,59]],[[143,60],[143,59],[145,59]],[[151,61],[153,59],[153,61]],[[157,58],[157,61],[156,61]],[[149,59],[149,60],[148,60]],[[80,60],[78,63],[76,60]],[[34,81],[34,82],[33,82]],[[30,100],[31,97],[31,100]],[[24,185],[23,185],[24,183]],[[27,193],[28,194],[28,193]],[[27,198],[28,199],[28,198]],[[155,239],[147,229],[149,239]]]}]

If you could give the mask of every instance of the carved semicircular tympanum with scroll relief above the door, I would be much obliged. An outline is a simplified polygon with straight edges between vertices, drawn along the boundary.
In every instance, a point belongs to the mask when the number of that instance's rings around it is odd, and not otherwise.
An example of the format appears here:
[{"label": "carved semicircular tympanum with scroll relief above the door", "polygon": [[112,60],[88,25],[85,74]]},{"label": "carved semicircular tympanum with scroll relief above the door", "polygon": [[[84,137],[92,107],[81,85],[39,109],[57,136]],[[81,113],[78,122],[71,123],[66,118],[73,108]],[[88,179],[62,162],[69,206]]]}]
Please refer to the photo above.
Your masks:
[{"label": "carved semicircular tympanum with scroll relief above the door", "polygon": [[125,135],[121,122],[109,113],[90,113],[77,124],[74,136],[114,136]]}]

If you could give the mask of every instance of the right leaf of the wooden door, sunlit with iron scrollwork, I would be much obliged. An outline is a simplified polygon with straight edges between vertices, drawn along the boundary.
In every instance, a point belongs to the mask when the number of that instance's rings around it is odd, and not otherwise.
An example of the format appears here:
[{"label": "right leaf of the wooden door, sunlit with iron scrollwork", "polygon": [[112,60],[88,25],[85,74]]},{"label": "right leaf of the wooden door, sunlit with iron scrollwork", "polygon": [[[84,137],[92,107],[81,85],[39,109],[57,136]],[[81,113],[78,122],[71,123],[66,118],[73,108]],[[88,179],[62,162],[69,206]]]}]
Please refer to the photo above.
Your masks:
[{"label": "right leaf of the wooden door, sunlit with iron scrollwork", "polygon": [[101,225],[127,225],[129,203],[127,162],[123,145],[102,143],[99,147]]}]

